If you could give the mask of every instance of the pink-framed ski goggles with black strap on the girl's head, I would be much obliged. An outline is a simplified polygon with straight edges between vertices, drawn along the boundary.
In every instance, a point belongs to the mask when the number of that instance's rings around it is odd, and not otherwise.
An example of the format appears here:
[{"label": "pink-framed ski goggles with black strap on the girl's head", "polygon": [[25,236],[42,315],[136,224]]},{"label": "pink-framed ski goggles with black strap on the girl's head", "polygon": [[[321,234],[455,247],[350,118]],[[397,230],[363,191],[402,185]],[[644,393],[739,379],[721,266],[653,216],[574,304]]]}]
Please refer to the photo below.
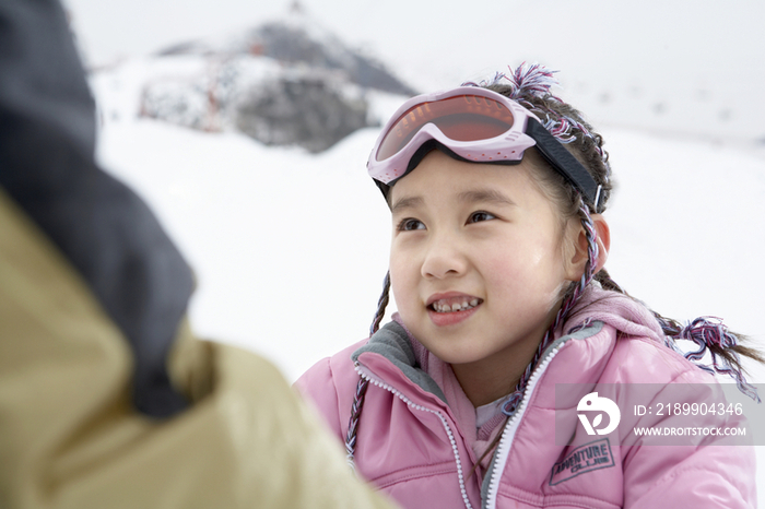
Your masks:
[{"label": "pink-framed ski goggles with black strap on the girl's head", "polygon": [[601,212],[600,186],[537,117],[515,100],[476,86],[407,100],[382,129],[366,167],[387,194],[434,149],[470,163],[511,165],[531,146]]}]

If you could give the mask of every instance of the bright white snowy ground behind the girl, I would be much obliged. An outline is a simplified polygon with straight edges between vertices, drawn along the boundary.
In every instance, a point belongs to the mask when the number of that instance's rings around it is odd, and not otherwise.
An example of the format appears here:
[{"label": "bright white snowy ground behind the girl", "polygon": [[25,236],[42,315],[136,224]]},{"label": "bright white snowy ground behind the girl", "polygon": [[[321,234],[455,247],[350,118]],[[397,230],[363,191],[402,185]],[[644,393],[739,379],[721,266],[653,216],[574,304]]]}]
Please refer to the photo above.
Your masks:
[{"label": "bright white snowy ground behind the girl", "polygon": [[[289,380],[365,336],[390,227],[364,168],[376,130],[310,156],[103,111],[98,157],[196,270],[198,333],[266,355]],[[607,212],[613,277],[666,316],[722,317],[765,350],[765,149],[600,130],[619,186]],[[765,382],[765,369],[751,378]],[[762,492],[762,472],[758,482]]]}]

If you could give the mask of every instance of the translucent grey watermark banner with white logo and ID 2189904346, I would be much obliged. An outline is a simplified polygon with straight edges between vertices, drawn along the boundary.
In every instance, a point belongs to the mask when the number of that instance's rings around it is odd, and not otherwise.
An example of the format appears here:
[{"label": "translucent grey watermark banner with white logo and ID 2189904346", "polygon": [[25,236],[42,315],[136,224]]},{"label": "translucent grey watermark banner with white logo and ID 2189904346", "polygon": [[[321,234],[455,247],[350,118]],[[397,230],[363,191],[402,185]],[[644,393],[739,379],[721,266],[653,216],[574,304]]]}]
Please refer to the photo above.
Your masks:
[{"label": "translucent grey watermark banner with white logo and ID 2189904346", "polygon": [[556,446],[607,437],[619,445],[762,446],[764,423],[765,404],[735,383],[555,384]]}]

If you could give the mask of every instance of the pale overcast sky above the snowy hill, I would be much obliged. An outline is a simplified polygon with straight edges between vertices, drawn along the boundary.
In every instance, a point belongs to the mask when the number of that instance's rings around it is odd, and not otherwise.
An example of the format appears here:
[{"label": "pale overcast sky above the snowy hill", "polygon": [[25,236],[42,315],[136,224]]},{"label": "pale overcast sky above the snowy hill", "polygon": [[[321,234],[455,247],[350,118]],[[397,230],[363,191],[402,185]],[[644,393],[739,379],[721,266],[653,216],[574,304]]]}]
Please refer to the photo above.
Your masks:
[{"label": "pale overcast sky above the snowy hill", "polygon": [[[178,40],[257,25],[292,0],[64,0],[89,58],[104,62]],[[740,0],[301,0],[305,11],[352,46],[412,79],[423,62],[438,74],[546,57],[551,66],[642,74],[687,70],[709,83],[764,66],[765,2]],[[560,62],[560,63],[558,63]],[[602,63],[599,63],[602,62]],[[732,78],[732,76],[731,76]]]}]

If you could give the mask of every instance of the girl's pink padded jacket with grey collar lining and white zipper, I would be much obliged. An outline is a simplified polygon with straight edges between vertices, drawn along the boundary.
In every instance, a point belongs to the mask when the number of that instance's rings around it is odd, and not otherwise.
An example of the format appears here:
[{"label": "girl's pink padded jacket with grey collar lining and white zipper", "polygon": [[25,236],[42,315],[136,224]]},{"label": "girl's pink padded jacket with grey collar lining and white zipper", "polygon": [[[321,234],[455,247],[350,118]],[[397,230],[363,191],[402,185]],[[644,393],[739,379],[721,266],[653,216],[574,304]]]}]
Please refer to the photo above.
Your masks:
[{"label": "girl's pink padded jacket with grey collar lining and white zipper", "polygon": [[[483,476],[468,475],[475,453],[442,388],[420,368],[415,352],[424,348],[397,322],[320,360],[296,387],[343,440],[360,374],[370,379],[356,470],[407,508],[754,507],[751,447],[640,446],[581,429],[556,445],[557,383],[715,383],[664,346],[650,312],[627,297],[588,288],[562,330],[582,323],[545,352]],[[733,415],[727,424],[741,422]]]}]

